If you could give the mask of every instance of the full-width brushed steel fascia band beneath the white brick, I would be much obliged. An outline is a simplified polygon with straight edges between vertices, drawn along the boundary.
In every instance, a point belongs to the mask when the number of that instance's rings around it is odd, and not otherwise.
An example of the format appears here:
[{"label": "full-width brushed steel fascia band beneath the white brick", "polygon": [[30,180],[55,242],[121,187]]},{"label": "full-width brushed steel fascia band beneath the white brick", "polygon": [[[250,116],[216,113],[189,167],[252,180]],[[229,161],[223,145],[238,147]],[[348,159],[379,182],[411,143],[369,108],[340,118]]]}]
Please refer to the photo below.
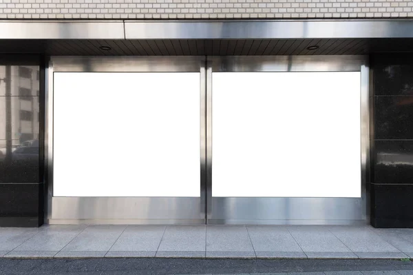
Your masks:
[{"label": "full-width brushed steel fascia band beneath the white brick", "polygon": [[346,39],[413,37],[413,21],[0,21],[0,39]]}]

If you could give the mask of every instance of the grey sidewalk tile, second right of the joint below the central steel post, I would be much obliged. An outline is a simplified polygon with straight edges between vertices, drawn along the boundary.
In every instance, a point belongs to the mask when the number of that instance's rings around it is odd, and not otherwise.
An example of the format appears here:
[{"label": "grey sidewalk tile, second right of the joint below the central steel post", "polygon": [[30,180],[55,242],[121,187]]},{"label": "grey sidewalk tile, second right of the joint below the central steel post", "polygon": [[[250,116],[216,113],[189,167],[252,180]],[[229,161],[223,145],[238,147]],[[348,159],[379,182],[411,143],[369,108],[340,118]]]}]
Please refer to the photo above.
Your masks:
[{"label": "grey sidewalk tile, second right of the joint below the central steel post", "polygon": [[248,226],[255,252],[303,252],[286,227]]}]

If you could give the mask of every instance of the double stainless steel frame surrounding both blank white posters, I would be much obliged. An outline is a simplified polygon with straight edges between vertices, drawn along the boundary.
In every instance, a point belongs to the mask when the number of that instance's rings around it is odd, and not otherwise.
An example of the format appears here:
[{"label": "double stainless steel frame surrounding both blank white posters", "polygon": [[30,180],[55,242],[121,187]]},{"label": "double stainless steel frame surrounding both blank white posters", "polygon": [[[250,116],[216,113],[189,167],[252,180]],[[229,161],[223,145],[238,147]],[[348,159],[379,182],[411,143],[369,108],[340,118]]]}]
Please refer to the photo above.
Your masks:
[{"label": "double stainless steel frame surrounding both blank white posters", "polygon": [[[218,198],[212,196],[212,72],[361,72],[361,198]],[[54,197],[54,72],[200,72],[200,198]],[[46,71],[47,223],[357,224],[367,223],[369,69],[366,57],[52,57]]]}]

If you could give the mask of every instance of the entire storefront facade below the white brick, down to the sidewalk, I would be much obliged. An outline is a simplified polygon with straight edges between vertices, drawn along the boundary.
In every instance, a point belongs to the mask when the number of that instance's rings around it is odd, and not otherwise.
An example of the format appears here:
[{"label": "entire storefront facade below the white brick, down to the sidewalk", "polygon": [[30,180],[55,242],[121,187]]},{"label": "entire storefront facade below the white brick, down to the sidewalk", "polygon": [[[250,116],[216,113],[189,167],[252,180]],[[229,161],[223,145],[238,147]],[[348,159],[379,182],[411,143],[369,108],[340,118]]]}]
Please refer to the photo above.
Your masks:
[{"label": "entire storefront facade below the white brick, down to the sidewalk", "polygon": [[412,227],[413,21],[126,10],[0,22],[0,225]]}]

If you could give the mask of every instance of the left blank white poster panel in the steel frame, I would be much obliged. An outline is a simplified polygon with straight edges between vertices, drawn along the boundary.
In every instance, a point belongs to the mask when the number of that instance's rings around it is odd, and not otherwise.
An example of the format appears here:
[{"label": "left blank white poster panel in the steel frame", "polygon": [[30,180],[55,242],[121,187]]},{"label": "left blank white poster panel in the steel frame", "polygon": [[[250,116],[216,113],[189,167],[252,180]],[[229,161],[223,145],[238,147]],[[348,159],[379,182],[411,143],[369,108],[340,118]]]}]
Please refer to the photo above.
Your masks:
[{"label": "left blank white poster panel in the steel frame", "polygon": [[54,73],[54,196],[200,196],[199,73]]}]

